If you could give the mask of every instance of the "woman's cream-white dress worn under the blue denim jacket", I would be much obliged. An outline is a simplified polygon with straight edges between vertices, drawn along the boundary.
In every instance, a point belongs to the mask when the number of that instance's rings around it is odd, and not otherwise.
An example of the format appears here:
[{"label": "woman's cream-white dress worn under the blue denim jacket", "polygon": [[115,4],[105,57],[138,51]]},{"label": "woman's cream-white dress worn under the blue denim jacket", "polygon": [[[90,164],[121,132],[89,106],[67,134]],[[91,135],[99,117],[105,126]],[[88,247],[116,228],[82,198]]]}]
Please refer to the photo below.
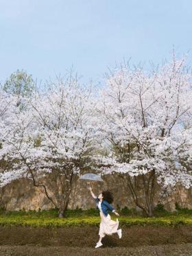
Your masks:
[{"label": "woman's cream-white dress worn under the blue denim jacket", "polygon": [[101,202],[99,201],[98,208],[100,211],[101,222],[99,226],[99,236],[104,237],[105,235],[112,235],[113,233],[117,233],[117,229],[119,226],[119,221],[111,220],[110,215],[105,216],[101,209]]}]

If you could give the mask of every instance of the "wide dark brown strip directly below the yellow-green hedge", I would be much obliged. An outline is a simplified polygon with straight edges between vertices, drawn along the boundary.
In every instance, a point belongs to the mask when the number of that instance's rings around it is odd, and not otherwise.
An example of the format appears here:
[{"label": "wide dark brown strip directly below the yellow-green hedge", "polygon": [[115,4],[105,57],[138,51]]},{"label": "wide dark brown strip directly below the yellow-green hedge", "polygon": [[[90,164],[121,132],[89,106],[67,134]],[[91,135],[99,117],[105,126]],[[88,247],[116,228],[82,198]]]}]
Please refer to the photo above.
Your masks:
[{"label": "wide dark brown strip directly below the yellow-green hedge", "polygon": [[[27,226],[1,226],[0,245],[67,246],[88,248],[98,240],[98,227],[66,227],[57,229]],[[105,247],[155,246],[159,244],[192,243],[192,226],[130,226],[117,234],[106,236]],[[191,253],[192,255],[192,253]]]}]

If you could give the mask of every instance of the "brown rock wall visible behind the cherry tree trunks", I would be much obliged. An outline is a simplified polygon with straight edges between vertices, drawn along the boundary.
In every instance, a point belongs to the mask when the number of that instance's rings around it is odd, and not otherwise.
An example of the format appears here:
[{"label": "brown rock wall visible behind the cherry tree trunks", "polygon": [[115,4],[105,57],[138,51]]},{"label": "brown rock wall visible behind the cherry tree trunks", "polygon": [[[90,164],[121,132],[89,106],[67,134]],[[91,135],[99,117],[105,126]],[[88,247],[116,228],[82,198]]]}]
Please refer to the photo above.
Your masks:
[{"label": "brown rock wall visible behind the cherry tree trunks", "polygon": [[[105,183],[93,184],[95,194],[99,194],[99,192],[105,189],[110,189],[115,195],[115,201],[113,203],[115,207],[118,205],[121,208],[135,208],[128,189],[119,183],[114,176],[108,176]],[[180,207],[191,209],[192,190],[177,187],[173,193],[169,195],[169,197],[165,197],[162,202],[169,211],[175,209],[176,202],[179,202]],[[32,181],[21,178],[1,189],[1,207],[5,207],[5,209],[10,211],[19,209],[38,211],[38,209],[51,209],[53,205],[45,196],[42,188],[34,187]],[[95,202],[89,194],[87,184],[80,180],[78,180],[74,186],[69,201],[69,209],[76,209],[77,207],[82,209],[95,207]]]}]

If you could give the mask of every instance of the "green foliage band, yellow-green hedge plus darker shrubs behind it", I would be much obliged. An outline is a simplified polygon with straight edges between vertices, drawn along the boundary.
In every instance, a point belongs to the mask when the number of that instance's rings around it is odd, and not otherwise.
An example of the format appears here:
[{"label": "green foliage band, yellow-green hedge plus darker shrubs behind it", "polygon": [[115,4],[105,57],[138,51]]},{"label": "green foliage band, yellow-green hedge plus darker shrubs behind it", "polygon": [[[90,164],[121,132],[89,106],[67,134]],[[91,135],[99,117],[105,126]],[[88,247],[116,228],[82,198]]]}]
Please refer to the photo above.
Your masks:
[{"label": "green foliage band, yellow-green hedge plus darker shrubs behind it", "polygon": [[[164,207],[158,205],[157,209],[163,211]],[[192,216],[190,214],[169,213],[168,216],[145,218],[141,216],[128,216],[132,210],[124,208],[121,210],[121,216],[118,218],[121,226],[178,226],[192,225]],[[124,215],[123,215],[124,214]],[[50,209],[43,211],[2,211],[0,212],[0,226],[32,226],[57,228],[66,226],[99,226],[100,217],[96,209],[67,210],[66,218],[58,218],[58,209]],[[117,216],[111,214],[112,220],[116,220]]]}]

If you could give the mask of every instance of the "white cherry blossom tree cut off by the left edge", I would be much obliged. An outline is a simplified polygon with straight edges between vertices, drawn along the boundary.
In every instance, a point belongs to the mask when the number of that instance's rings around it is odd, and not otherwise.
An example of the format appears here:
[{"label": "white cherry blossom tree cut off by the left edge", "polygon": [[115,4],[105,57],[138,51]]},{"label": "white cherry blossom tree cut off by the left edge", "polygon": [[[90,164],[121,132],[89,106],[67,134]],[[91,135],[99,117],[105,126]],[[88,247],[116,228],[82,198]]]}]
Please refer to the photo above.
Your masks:
[{"label": "white cherry blossom tree cut off by the left edge", "polygon": [[[14,142],[22,141],[19,137],[22,135],[22,126],[29,124],[29,115],[27,113],[27,101],[24,98],[19,100],[18,95],[13,95],[0,90],[0,163],[1,163],[1,187],[10,183],[16,178],[22,177],[22,172],[14,169],[14,163],[17,159],[14,152]],[[15,137],[14,137],[15,136]]]}]

